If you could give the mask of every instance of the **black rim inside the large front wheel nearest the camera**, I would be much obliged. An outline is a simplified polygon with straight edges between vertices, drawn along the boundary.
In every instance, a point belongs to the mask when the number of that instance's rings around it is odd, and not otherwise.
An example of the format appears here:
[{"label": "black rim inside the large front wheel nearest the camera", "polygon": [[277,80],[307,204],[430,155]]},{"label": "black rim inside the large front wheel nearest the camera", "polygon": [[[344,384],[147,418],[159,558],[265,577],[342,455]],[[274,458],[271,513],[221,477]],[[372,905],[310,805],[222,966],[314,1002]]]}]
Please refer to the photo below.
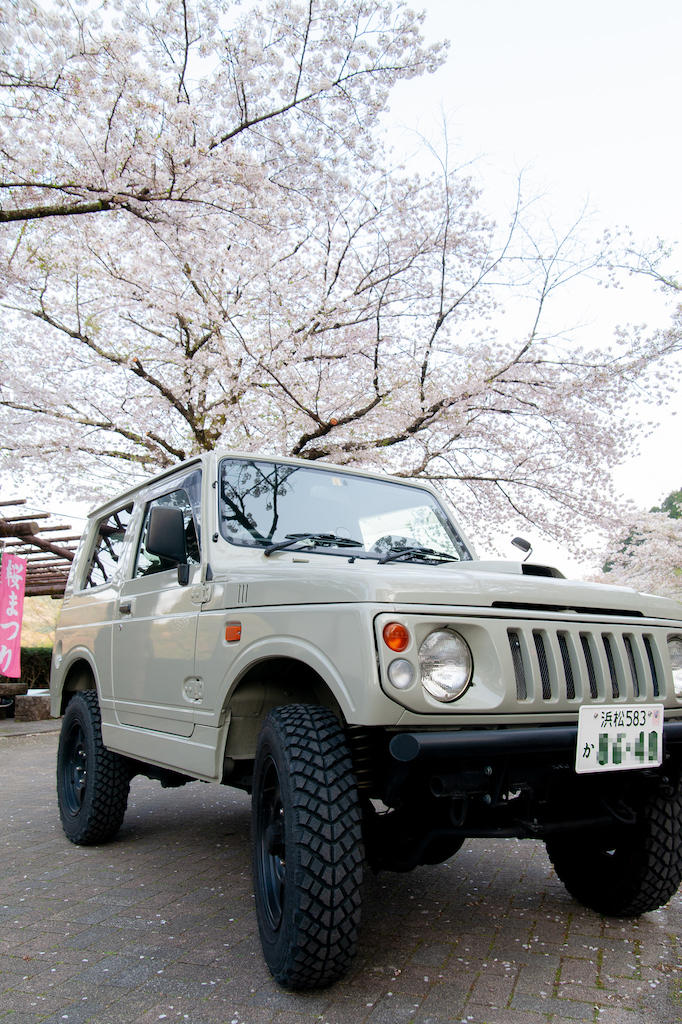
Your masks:
[{"label": "black rim inside the large front wheel nearest the camera", "polygon": [[263,908],[269,927],[276,932],[285,900],[285,818],[280,774],[269,757],[263,767],[258,850]]}]

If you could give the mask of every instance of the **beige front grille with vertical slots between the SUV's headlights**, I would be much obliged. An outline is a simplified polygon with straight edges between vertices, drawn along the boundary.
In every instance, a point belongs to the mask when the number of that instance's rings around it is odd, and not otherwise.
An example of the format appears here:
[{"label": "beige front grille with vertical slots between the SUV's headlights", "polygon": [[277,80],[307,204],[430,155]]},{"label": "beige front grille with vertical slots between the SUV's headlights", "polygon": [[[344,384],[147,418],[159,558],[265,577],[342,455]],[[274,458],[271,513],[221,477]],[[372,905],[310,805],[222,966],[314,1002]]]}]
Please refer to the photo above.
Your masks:
[{"label": "beige front grille with vertical slots between the SUV's headlights", "polygon": [[515,625],[507,630],[516,697],[550,700],[648,700],[665,697],[656,637],[644,630]]}]

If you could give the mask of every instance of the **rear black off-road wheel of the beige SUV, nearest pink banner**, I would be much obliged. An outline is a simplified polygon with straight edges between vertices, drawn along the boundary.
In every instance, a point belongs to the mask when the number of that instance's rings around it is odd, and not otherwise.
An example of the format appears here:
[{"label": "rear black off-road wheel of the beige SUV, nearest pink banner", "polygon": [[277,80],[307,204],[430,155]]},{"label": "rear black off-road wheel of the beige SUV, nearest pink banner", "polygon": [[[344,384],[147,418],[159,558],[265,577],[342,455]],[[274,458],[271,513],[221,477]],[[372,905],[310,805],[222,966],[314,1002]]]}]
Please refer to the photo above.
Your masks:
[{"label": "rear black off-road wheel of the beige SUV, nearest pink banner", "polygon": [[67,838],[79,846],[114,839],[130,790],[125,758],[101,741],[94,690],[76,693],[67,707],[57,751],[57,800]]}]

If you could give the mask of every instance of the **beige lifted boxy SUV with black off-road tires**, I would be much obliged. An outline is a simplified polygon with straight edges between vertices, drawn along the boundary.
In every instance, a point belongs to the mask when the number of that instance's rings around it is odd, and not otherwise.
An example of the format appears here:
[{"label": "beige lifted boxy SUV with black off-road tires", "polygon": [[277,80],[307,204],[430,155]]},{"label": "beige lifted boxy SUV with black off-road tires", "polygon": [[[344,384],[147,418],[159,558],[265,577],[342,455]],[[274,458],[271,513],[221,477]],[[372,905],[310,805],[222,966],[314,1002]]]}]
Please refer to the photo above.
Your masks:
[{"label": "beige lifted boxy SUV with black off-road tires", "polygon": [[682,878],[682,606],[477,560],[422,483],[210,454],[122,495],[74,561],[51,693],[72,842],[117,833],[136,774],[252,794],[290,988],[347,970],[366,862],[541,839],[624,916]]}]

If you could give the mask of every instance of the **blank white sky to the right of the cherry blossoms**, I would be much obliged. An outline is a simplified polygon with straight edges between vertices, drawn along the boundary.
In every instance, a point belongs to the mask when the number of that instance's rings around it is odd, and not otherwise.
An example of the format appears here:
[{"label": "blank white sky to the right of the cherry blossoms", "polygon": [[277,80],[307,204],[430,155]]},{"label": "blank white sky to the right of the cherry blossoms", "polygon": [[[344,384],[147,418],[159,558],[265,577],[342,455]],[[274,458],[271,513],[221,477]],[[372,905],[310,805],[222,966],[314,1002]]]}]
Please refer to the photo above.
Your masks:
[{"label": "blank white sky to the right of the cherry blossoms", "polygon": [[[586,206],[590,226],[629,226],[642,245],[671,244],[682,227],[682,2],[680,0],[415,0],[429,40],[447,38],[445,67],[396,90],[393,118],[437,137],[444,113],[457,159],[483,187],[484,210],[511,208],[523,172],[528,194],[557,225]],[[398,144],[399,136],[398,136]],[[406,143],[407,144],[407,143]],[[677,254],[679,265],[680,251]],[[583,339],[617,323],[665,326],[648,284],[579,296]],[[569,325],[567,325],[569,326]],[[643,455],[616,470],[641,506],[682,485],[680,432],[669,410]]]}]

